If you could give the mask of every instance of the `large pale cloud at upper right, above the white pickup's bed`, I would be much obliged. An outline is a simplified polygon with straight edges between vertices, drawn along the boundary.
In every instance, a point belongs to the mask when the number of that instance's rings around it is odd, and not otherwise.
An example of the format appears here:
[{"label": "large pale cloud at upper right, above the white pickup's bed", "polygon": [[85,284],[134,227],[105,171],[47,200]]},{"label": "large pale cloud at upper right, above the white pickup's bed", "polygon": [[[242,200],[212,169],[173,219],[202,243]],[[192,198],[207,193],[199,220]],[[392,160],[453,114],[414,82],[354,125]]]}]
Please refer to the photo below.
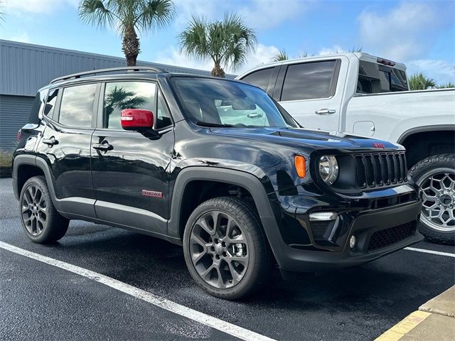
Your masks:
[{"label": "large pale cloud at upper right, above the white pickup's bed", "polygon": [[410,2],[383,14],[363,11],[358,21],[364,50],[398,61],[419,58],[432,41],[424,37],[437,26],[432,6]]}]

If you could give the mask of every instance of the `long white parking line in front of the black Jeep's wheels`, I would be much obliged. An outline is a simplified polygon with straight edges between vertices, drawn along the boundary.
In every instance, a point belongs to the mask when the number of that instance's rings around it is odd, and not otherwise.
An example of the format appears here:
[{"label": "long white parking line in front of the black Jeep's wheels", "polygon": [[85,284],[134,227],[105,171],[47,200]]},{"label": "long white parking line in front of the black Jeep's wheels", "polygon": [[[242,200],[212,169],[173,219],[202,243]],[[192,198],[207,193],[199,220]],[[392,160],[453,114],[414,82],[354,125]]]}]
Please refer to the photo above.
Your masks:
[{"label": "long white parking line in front of the black Jeep's wheels", "polygon": [[11,244],[6,244],[0,241],[0,248],[5,249],[15,254],[20,254],[21,256],[26,256],[31,259],[35,259],[36,261],[41,261],[45,264],[49,264],[52,266],[56,266],[60,269],[64,269],[66,271],[73,272],[74,274],[78,274],[80,276],[84,276],[86,278],[90,278],[93,281],[97,281],[99,283],[105,284],[105,286],[110,286],[118,291],[122,291],[122,293],[127,293],[128,295],[134,296],[135,298],[139,298],[142,301],[146,301],[153,305],[156,305],[159,308],[166,309],[171,313],[175,313],[177,315],[181,315],[185,318],[189,318],[190,320],[196,321],[198,323],[202,323],[203,325],[208,325],[211,328],[216,330],[220,330],[221,332],[225,332],[226,334],[238,337],[242,340],[247,341],[255,341],[255,340],[264,340],[264,341],[274,341],[267,336],[258,334],[257,332],[252,332],[251,330],[247,330],[245,328],[239,327],[237,325],[232,325],[232,323],[225,322],[218,318],[214,318],[213,316],[200,313],[198,310],[193,310],[188,308],[184,305],[180,305],[173,301],[169,301],[166,298],[162,298],[160,296],[156,296],[153,293],[149,293],[148,291],[141,290],[134,286],[130,286],[127,283],[123,283],[121,281],[117,281],[117,279],[110,278],[108,276],[98,274],[95,271],[90,271],[80,266],[75,266],[73,264],[65,263],[64,261],[58,261],[57,259],[50,258],[48,256],[43,256],[41,254],[36,254],[35,252],[27,251],[24,249],[20,249],[18,247],[14,247]]}]

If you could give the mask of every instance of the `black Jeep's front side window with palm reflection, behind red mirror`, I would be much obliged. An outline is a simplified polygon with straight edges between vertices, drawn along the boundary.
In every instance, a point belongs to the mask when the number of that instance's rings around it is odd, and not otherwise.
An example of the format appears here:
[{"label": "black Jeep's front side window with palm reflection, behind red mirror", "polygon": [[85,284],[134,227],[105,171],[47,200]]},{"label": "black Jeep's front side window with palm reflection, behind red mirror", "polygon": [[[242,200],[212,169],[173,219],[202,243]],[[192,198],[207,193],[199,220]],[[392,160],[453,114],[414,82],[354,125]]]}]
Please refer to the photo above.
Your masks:
[{"label": "black Jeep's front side window with palm reflection, behind red mirror", "polygon": [[156,85],[151,82],[106,83],[102,127],[122,129],[120,113],[123,109],[155,110]]}]

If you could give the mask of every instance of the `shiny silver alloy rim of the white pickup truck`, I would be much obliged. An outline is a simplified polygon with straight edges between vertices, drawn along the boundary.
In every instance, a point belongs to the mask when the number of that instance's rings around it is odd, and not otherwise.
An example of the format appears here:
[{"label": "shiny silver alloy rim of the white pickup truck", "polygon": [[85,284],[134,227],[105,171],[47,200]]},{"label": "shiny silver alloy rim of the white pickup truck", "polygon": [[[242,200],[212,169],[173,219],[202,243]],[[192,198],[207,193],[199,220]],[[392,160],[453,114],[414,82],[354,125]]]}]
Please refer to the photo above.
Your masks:
[{"label": "shiny silver alloy rim of the white pickup truck", "polygon": [[420,179],[422,222],[439,231],[455,231],[455,171],[434,169]]}]

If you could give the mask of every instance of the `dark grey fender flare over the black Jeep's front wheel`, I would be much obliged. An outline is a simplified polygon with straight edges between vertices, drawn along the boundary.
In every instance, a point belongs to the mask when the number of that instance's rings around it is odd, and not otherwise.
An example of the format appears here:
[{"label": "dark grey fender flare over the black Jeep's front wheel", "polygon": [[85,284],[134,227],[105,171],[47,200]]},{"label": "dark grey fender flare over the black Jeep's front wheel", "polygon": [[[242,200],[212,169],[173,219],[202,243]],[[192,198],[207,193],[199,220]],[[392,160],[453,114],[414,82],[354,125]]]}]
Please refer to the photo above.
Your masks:
[{"label": "dark grey fender flare over the black Jeep's front wheel", "polygon": [[232,185],[239,185],[250,192],[259,218],[262,222],[262,227],[269,241],[269,245],[272,248],[275,259],[280,264],[280,255],[282,255],[282,249],[286,249],[287,245],[282,239],[282,235],[279,232],[277,220],[270,205],[269,196],[266,193],[264,185],[261,180],[255,175],[244,171],[235,171],[226,168],[215,168],[205,166],[193,166],[184,168],[181,171],[173,186],[173,194],[171,199],[171,214],[168,220],[168,236],[182,239],[183,236],[180,234],[181,226],[181,205],[183,200],[183,193],[185,193],[186,186],[193,180],[212,180],[223,183],[230,183]]}]

